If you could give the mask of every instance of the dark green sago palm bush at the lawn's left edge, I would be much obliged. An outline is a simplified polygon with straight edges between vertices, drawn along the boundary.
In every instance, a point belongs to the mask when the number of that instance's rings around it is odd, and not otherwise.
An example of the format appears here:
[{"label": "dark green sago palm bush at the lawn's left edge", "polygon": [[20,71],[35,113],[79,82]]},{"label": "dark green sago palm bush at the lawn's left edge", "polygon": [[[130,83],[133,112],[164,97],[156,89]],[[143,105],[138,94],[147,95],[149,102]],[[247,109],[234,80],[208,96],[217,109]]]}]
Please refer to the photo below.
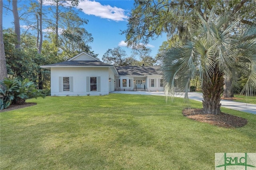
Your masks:
[{"label": "dark green sago palm bush at the lawn's left edge", "polygon": [[20,81],[19,79],[4,79],[0,81],[0,109],[6,109],[11,104],[22,105],[26,99],[45,97],[39,90],[36,89],[36,85],[27,79]]}]

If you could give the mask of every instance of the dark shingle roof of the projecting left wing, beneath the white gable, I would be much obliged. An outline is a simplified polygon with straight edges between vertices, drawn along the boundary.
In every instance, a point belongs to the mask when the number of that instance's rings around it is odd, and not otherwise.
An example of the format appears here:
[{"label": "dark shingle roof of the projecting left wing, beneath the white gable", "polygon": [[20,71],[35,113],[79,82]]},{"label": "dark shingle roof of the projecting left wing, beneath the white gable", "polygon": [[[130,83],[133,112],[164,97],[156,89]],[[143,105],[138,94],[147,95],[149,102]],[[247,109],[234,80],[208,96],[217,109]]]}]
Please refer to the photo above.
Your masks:
[{"label": "dark shingle roof of the projecting left wing, beneath the white gable", "polygon": [[113,66],[113,65],[103,63],[102,61],[63,61],[60,63],[54,63],[54,64],[49,64],[44,66],[50,67],[50,66]]}]

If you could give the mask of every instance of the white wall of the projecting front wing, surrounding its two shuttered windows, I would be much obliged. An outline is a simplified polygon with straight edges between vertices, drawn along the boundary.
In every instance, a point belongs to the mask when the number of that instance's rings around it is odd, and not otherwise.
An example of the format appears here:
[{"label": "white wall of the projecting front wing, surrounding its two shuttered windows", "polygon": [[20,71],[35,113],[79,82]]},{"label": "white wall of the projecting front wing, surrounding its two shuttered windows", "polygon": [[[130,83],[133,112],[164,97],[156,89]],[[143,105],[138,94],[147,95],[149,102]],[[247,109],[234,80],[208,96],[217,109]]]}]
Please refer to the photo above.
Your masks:
[{"label": "white wall of the projecting front wing, surrounding its two shuttered windows", "polygon": [[[59,77],[73,77],[73,92],[59,91]],[[86,77],[100,77],[100,91],[86,92]],[[109,82],[109,77],[113,81]],[[51,95],[107,95],[114,91],[110,87],[114,83],[114,73],[108,67],[52,67],[51,68]],[[88,83],[87,83],[88,84]]]}]

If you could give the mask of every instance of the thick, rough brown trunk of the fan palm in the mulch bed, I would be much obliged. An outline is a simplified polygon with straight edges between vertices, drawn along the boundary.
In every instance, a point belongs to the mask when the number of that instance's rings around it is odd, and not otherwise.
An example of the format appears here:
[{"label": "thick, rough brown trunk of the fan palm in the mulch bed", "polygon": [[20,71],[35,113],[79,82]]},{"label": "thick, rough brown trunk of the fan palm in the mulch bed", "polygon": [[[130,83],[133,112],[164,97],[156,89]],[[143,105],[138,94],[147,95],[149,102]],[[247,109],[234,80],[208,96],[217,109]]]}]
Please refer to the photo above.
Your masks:
[{"label": "thick, rough brown trunk of the fan palm in the mulch bed", "polygon": [[202,85],[203,112],[205,114],[220,114],[220,97],[223,92],[224,77],[218,67],[214,69],[210,81],[204,81]]}]

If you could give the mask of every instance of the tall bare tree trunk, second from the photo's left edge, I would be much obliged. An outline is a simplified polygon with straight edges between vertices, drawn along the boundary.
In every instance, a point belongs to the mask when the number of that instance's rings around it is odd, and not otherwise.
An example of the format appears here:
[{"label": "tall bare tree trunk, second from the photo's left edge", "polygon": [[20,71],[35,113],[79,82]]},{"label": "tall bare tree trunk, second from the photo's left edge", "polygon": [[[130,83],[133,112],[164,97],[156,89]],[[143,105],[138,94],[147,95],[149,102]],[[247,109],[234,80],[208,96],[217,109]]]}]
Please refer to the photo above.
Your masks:
[{"label": "tall bare tree trunk, second from the photo's left edge", "polygon": [[15,48],[20,48],[20,18],[18,14],[18,0],[12,0],[12,14],[14,17],[14,32],[17,36],[17,44],[15,44]]}]

